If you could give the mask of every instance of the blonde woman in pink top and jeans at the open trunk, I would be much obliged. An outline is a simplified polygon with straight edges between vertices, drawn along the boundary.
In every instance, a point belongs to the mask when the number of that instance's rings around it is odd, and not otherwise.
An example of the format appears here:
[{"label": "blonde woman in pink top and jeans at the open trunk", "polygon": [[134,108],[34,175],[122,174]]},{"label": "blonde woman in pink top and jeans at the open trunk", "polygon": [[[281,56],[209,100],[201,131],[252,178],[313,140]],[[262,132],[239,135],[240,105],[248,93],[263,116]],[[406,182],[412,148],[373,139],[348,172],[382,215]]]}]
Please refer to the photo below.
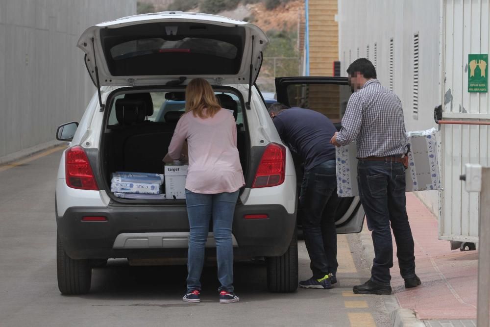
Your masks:
[{"label": "blonde woman in pink top and jeans at the open trunk", "polygon": [[239,189],[245,185],[237,149],[233,114],[221,108],[213,88],[202,78],[186,88],[185,114],[177,123],[165,161],[181,158],[188,143],[189,170],[186,202],[189,226],[187,293],[185,302],[200,302],[204,245],[213,219],[216,241],[220,303],[238,302],[233,290],[231,227]]}]

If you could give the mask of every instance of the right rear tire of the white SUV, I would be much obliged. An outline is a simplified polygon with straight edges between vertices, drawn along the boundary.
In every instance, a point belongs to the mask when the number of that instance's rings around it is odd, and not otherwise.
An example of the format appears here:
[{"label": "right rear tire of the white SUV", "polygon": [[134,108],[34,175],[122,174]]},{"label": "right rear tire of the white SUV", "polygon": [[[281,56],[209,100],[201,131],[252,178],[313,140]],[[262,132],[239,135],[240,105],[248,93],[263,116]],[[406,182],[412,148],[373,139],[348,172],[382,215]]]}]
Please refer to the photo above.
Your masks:
[{"label": "right rear tire of the white SUV", "polygon": [[272,256],[267,262],[267,288],[270,292],[288,293],[298,288],[298,240],[296,232],[288,251]]}]

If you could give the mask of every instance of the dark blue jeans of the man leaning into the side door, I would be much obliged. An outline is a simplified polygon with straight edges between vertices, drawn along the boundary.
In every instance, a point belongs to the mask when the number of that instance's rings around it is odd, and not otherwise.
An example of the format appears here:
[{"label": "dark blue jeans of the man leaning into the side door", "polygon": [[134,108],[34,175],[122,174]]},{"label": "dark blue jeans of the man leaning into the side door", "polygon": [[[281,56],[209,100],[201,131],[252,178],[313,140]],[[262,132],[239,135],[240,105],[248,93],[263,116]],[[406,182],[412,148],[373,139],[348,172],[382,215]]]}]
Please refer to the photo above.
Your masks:
[{"label": "dark blue jeans of the man leaning into the side door", "polygon": [[299,201],[303,208],[303,234],[313,277],[337,273],[337,196],[335,160],[326,161],[303,176]]}]

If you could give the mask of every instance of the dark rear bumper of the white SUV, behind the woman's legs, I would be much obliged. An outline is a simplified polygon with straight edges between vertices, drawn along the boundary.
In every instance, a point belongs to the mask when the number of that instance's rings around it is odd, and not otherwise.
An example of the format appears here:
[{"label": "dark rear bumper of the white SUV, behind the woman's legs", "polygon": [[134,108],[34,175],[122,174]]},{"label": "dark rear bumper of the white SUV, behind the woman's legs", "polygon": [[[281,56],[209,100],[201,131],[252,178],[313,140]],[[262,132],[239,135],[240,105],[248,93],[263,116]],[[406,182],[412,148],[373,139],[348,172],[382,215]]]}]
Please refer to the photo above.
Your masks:
[{"label": "dark rear bumper of the white SUV, behind the woman's legs", "polygon": [[[245,215],[267,215],[266,219],[245,219]],[[82,221],[86,216],[106,221]],[[183,205],[70,207],[56,217],[58,235],[73,259],[151,258],[187,254],[189,222]],[[237,256],[279,256],[286,252],[296,224],[280,204],[237,204],[233,221],[233,242]],[[210,238],[207,247],[213,248]]]}]

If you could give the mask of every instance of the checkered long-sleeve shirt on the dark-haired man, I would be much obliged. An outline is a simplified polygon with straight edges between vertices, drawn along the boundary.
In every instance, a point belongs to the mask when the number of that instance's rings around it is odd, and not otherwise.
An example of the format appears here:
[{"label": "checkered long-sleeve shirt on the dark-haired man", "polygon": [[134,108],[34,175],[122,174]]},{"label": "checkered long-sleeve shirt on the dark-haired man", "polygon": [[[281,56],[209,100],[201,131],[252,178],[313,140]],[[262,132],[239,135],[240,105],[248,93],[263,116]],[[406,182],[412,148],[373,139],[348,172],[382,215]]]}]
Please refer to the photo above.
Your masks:
[{"label": "checkered long-sleeve shirt on the dark-haired man", "polygon": [[384,157],[407,151],[401,101],[377,79],[368,80],[347,103],[337,142],[347,145],[354,139],[358,158]]}]

